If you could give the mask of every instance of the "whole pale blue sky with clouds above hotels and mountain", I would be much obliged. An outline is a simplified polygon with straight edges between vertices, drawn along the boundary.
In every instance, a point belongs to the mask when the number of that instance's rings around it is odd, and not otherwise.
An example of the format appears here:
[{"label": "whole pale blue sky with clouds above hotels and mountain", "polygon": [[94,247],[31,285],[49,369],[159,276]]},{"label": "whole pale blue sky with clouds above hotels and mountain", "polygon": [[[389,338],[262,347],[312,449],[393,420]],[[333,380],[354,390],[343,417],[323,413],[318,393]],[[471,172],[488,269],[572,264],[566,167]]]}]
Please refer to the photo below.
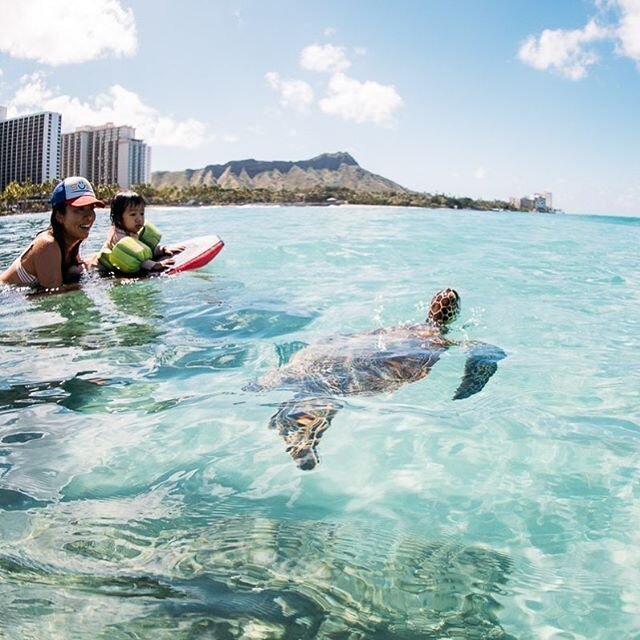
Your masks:
[{"label": "whole pale blue sky with clouds above hotels and mountain", "polygon": [[0,0],[0,105],[152,170],[348,151],[418,191],[640,213],[640,0]]}]

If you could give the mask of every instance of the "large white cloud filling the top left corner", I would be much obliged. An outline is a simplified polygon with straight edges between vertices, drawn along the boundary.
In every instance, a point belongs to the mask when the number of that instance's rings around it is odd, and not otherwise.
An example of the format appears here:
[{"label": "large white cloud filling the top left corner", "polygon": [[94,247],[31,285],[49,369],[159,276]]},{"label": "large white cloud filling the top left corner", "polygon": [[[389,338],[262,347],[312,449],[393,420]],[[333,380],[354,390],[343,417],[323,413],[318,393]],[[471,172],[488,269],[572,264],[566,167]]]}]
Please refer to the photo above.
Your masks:
[{"label": "large white cloud filling the top left corner", "polygon": [[136,50],[133,11],[119,0],[2,3],[0,52],[43,64],[86,62]]}]

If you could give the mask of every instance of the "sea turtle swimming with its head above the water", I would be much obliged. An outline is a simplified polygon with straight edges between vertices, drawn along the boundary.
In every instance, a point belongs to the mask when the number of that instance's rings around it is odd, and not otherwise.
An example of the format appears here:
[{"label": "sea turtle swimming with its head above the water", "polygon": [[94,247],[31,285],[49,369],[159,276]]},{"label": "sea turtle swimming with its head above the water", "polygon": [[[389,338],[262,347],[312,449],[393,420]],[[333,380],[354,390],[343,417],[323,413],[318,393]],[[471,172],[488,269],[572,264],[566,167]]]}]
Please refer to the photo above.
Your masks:
[{"label": "sea turtle swimming with its head above the water", "polygon": [[267,373],[250,388],[292,389],[292,400],[280,405],[270,420],[301,469],[319,462],[316,447],[342,404],[337,397],[395,391],[424,378],[440,355],[452,346],[468,350],[464,375],[454,400],[478,393],[506,357],[499,347],[459,342],[445,337],[460,311],[454,289],[438,291],[425,322],[383,327],[366,333],[331,337],[294,353],[283,367]]}]

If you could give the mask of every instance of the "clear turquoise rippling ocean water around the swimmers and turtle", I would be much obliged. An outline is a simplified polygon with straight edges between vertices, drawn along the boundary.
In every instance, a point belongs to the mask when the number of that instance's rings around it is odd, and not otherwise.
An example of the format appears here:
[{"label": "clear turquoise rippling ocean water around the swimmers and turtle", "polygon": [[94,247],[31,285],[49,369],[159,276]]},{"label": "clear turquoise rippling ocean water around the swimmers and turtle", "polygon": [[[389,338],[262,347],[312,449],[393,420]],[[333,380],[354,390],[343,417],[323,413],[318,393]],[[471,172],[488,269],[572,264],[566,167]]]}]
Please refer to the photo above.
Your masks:
[{"label": "clear turquoise rippling ocean water around the swimmers and turtle", "polygon": [[[149,209],[207,267],[0,291],[0,636],[640,638],[640,219]],[[0,219],[0,267],[48,216]],[[100,213],[88,249],[107,229]],[[245,387],[335,334],[419,322],[465,354],[351,396],[313,471]]]}]

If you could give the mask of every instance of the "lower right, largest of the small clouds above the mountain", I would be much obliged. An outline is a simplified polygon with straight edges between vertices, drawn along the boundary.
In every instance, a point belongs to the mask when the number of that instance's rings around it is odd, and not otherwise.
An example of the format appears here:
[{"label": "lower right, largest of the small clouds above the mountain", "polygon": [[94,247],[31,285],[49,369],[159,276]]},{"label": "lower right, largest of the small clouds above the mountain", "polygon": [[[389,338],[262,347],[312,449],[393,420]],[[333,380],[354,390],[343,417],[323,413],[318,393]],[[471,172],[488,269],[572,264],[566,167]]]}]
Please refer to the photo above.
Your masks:
[{"label": "lower right, largest of the small clouds above the mountain", "polygon": [[329,92],[320,108],[329,115],[354,122],[388,124],[403,100],[393,85],[371,80],[359,82],[344,73],[336,73],[329,82]]}]

